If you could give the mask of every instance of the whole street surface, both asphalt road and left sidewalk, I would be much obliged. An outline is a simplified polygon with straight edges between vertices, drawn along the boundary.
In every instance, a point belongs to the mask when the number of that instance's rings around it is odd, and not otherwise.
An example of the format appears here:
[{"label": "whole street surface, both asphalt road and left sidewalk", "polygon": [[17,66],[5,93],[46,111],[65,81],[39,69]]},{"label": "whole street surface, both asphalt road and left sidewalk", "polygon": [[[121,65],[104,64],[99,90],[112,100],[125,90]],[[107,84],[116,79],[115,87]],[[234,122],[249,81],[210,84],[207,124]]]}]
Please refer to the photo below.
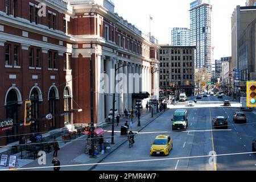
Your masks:
[{"label": "whole street surface, both asphalt road and left sidewalk", "polygon": [[[223,106],[224,100],[230,100],[232,106]],[[137,127],[137,119],[134,119],[133,131],[135,143],[129,148],[126,137],[120,136],[120,127],[126,119],[122,118],[120,125],[115,125],[115,144],[112,150],[104,155],[98,155],[95,159],[84,154],[85,136],[77,138],[67,144],[61,144],[59,159],[61,165],[84,165],[62,167],[61,171],[227,171],[227,170],[256,170],[256,154],[226,155],[243,152],[251,152],[251,142],[256,138],[256,113],[245,112],[246,124],[233,122],[233,114],[240,111],[238,101],[232,101],[230,97],[218,99],[208,96],[198,100],[195,107],[188,107],[187,102],[179,102],[176,105],[168,105],[168,110],[151,118],[151,113],[145,109],[142,111],[141,127]],[[188,110],[187,131],[172,131],[171,118],[176,109]],[[212,119],[216,116],[228,118],[228,130],[214,129]],[[104,126],[109,130],[104,135],[111,141],[111,123]],[[174,148],[168,156],[150,156],[150,147],[157,135],[171,135]],[[213,160],[213,155],[217,156]],[[37,160],[22,166],[44,167],[52,166],[52,153],[47,154],[47,164],[39,166]],[[97,165],[95,165],[97,164]],[[35,169],[34,169],[35,170]],[[52,170],[43,168],[36,170]]]}]

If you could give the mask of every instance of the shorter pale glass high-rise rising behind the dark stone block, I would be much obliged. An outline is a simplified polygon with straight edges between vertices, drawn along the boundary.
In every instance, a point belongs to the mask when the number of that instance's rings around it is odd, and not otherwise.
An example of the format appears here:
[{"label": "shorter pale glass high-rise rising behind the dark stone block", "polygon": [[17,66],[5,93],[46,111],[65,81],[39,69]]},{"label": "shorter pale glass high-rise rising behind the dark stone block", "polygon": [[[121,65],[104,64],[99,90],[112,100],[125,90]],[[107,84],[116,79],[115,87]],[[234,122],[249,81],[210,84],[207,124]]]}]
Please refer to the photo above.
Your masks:
[{"label": "shorter pale glass high-rise rising behind the dark stone block", "polygon": [[172,28],[172,46],[190,46],[190,30],[188,28]]}]

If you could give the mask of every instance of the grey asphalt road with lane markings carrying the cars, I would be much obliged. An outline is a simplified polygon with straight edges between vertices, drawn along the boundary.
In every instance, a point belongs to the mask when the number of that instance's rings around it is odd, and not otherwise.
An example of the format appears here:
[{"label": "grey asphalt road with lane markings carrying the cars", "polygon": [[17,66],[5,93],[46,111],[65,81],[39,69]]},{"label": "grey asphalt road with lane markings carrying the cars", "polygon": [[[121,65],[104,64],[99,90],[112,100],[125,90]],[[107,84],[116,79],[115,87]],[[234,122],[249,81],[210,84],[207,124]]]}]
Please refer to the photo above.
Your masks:
[{"label": "grey asphalt road with lane markings carrying the cars", "polygon": [[[148,125],[135,137],[133,148],[128,142],[108,156],[94,170],[97,171],[137,171],[137,170],[255,170],[255,154],[218,156],[216,165],[208,155],[251,152],[251,142],[256,138],[256,115],[246,113],[247,124],[237,125],[233,122],[233,113],[239,111],[239,104],[232,103],[224,107],[223,100],[214,96],[202,98],[195,107],[185,103],[171,105],[166,113]],[[172,131],[171,118],[178,108],[188,110],[188,130]],[[212,119],[223,115],[229,119],[229,129],[220,130],[212,127]],[[169,156],[150,156],[150,142],[157,135],[171,135],[174,148]],[[195,156],[207,156],[193,158]],[[177,159],[178,158],[178,159]],[[113,164],[113,162],[120,162]]]}]

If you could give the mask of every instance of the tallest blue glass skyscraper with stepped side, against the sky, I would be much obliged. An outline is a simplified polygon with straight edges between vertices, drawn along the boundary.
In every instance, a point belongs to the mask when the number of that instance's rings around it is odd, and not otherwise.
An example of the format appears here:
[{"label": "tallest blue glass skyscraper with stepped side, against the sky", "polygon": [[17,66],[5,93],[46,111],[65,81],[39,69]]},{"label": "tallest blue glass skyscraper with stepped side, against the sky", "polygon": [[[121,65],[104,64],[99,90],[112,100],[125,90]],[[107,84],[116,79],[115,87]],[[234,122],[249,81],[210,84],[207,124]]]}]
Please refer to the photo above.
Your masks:
[{"label": "tallest blue glass skyscraper with stepped side, against the sky", "polygon": [[196,46],[195,67],[211,72],[211,23],[212,5],[209,0],[197,0],[190,4],[191,46]]}]

